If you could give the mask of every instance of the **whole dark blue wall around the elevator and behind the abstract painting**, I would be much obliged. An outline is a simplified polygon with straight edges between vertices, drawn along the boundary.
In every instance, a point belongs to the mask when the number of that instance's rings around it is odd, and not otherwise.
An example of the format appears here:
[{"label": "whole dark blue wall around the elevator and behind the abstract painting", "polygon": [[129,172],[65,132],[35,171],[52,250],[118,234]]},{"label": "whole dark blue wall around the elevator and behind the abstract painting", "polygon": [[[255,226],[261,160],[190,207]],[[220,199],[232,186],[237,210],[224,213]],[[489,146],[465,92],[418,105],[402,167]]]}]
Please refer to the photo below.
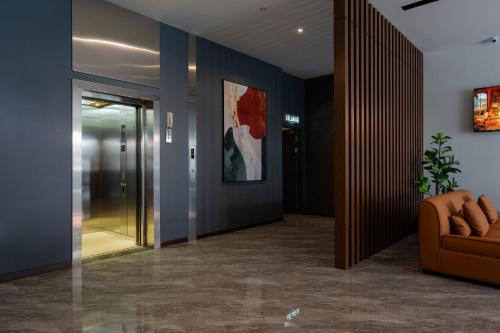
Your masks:
[{"label": "whole dark blue wall around the elevator and behind the abstract painting", "polygon": [[[4,0],[0,19],[0,275],[71,261],[72,78],[160,94],[161,240],[186,237],[187,34],[161,25],[158,91],[72,72],[70,0]],[[291,110],[297,102],[284,98],[298,97],[283,95],[284,77],[276,66],[198,40],[199,234],[281,218],[282,104]],[[267,91],[264,182],[222,182],[223,79]],[[164,143],[167,112],[172,144]]]}]

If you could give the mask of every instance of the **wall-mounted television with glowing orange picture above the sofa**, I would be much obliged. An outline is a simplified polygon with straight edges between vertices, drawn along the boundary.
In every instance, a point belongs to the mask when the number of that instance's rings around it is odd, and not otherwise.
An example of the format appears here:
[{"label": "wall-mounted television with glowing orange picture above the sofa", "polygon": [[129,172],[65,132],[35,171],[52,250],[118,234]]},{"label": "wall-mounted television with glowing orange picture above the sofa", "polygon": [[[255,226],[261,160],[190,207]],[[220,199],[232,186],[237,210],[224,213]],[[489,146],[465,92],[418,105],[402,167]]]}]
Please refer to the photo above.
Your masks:
[{"label": "wall-mounted television with glowing orange picture above the sofa", "polygon": [[474,132],[500,131],[500,86],[474,90]]}]

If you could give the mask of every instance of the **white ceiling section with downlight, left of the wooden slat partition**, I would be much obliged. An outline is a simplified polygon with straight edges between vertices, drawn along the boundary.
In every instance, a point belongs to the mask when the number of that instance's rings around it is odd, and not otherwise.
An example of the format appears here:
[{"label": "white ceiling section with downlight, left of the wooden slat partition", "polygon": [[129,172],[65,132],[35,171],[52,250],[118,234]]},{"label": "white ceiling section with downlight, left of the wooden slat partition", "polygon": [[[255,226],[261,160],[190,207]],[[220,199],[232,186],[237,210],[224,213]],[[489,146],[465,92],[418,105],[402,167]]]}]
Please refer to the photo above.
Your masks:
[{"label": "white ceiling section with downlight, left of the wooden slat partition", "polygon": [[108,1],[304,79],[333,73],[333,0]]}]

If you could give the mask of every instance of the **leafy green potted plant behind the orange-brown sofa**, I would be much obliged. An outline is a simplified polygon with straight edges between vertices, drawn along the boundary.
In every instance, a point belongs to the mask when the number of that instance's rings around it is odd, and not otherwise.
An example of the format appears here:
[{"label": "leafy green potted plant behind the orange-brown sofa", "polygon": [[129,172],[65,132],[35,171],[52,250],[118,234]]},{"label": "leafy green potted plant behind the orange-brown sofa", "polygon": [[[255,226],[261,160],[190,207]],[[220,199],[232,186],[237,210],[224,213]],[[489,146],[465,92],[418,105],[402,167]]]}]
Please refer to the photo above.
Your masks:
[{"label": "leafy green potted plant behind the orange-brown sofa", "polygon": [[431,195],[431,189],[434,189],[434,195],[448,193],[459,186],[452,175],[460,173],[458,166],[460,162],[455,160],[452,148],[448,145],[451,137],[443,133],[437,133],[432,136],[432,148],[426,150],[422,160],[424,170],[430,174],[430,179],[421,174],[416,181],[418,190],[421,193]]}]

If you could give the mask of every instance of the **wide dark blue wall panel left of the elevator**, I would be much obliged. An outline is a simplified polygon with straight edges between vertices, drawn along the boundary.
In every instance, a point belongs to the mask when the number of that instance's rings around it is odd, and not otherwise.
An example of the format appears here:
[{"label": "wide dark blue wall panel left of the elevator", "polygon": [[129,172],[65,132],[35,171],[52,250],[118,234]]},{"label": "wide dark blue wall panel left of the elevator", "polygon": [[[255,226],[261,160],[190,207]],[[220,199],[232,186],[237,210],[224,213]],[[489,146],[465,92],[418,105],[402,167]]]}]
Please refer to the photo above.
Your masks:
[{"label": "wide dark blue wall panel left of the elevator", "polygon": [[71,2],[3,0],[0,25],[4,274],[71,260]]}]

